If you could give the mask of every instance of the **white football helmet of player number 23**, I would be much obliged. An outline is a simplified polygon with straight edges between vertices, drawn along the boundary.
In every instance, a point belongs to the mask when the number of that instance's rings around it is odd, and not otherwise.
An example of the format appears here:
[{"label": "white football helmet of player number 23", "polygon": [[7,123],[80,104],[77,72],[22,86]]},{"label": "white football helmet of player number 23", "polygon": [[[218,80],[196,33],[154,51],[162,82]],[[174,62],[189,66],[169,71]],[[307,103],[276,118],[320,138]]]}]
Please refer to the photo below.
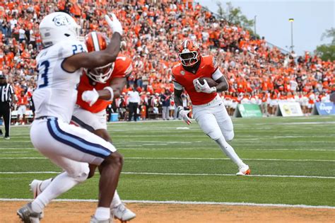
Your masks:
[{"label": "white football helmet of player number 23", "polygon": [[74,18],[64,12],[54,12],[45,16],[40,23],[40,34],[45,47],[64,40],[78,40],[81,27]]}]

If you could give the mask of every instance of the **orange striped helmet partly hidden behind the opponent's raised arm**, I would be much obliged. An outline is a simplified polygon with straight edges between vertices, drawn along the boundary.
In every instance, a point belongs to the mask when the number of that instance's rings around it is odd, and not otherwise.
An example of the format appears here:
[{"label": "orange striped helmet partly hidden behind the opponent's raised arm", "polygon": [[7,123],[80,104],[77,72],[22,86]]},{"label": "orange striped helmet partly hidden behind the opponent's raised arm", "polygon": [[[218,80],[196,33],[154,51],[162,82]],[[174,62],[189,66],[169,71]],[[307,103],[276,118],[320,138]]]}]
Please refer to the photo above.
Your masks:
[{"label": "orange striped helmet partly hidden behind the opponent's raised arm", "polygon": [[[85,44],[88,52],[105,50],[110,40],[102,33],[90,32],[85,36]],[[107,64],[95,69],[85,69],[86,75],[93,81],[105,84],[114,69],[114,63]]]}]

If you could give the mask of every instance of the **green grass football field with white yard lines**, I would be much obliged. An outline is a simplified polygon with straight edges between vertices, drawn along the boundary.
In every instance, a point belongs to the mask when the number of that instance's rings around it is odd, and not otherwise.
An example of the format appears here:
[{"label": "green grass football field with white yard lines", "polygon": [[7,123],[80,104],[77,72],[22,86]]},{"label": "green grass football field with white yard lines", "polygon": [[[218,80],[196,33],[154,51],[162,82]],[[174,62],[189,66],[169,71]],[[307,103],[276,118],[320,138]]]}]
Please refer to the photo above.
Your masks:
[{"label": "green grass football field with white yard lines", "polygon": [[[123,200],[253,202],[335,207],[335,117],[233,119],[231,145],[254,176],[237,167],[193,122],[112,123],[124,155]],[[41,132],[42,134],[42,132]],[[31,198],[33,179],[60,168],[30,143],[29,127],[12,127],[0,139],[0,198]],[[98,174],[61,196],[96,199]]]}]

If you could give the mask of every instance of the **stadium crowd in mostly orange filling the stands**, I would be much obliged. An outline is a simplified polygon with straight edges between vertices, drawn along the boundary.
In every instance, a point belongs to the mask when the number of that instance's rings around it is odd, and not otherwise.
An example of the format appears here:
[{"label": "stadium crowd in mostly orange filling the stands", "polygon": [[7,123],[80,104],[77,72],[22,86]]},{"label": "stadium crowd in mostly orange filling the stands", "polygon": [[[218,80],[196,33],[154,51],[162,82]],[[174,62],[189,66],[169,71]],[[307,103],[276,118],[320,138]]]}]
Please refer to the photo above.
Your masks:
[{"label": "stadium crowd in mostly orange filling the stands", "polygon": [[[184,38],[196,40],[202,55],[214,55],[230,83],[223,93],[233,115],[237,103],[261,105],[265,115],[274,115],[278,101],[297,101],[309,114],[317,101],[329,101],[334,90],[335,62],[316,55],[297,56],[270,47],[264,38],[218,20],[192,0],[134,1],[5,0],[0,3],[0,73],[16,91],[16,109],[33,109],[30,98],[36,86],[35,57],[42,48],[38,25],[48,13],[70,13],[81,25],[81,34],[100,31],[110,37],[103,16],[113,11],[124,27],[122,52],[133,59],[133,72],[121,98],[110,106],[127,119],[127,92],[140,93],[142,119],[154,118],[168,107],[164,119],[176,118],[171,69],[178,62],[177,46]],[[333,89],[331,89],[331,87]],[[23,97],[23,98],[22,98]],[[25,100],[25,97],[27,100]],[[184,107],[189,108],[185,94]],[[166,109],[165,109],[166,110]],[[21,122],[23,122],[22,120]]]}]

